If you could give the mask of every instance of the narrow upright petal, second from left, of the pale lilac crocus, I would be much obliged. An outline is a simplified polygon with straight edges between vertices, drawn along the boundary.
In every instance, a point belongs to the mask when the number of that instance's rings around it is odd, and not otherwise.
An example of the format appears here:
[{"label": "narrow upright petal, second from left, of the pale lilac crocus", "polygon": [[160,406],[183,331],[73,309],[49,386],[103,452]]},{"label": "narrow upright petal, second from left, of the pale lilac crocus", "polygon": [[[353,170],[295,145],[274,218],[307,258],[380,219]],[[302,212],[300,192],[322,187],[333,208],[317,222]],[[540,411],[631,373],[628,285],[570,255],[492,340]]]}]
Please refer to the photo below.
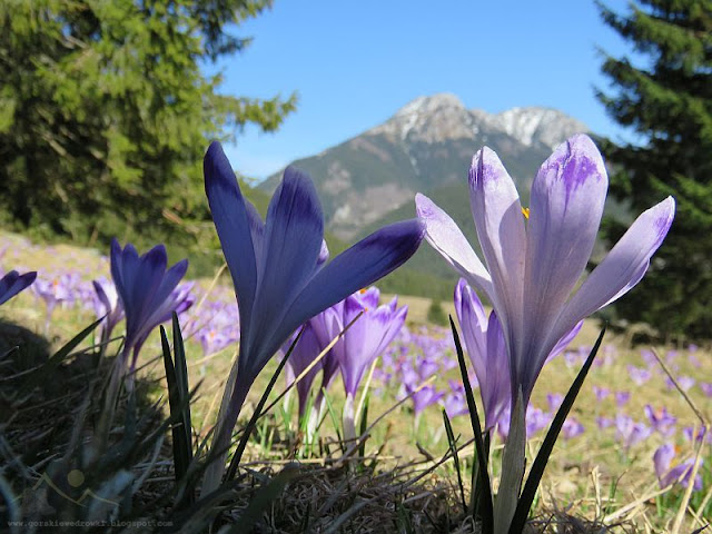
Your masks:
[{"label": "narrow upright petal, second from left, of the pale lilac crocus", "polygon": [[[469,169],[469,202],[482,253],[492,276],[495,309],[510,350],[522,342],[526,231],[520,195],[496,154],[479,150]],[[516,363],[515,363],[516,365]]]}]

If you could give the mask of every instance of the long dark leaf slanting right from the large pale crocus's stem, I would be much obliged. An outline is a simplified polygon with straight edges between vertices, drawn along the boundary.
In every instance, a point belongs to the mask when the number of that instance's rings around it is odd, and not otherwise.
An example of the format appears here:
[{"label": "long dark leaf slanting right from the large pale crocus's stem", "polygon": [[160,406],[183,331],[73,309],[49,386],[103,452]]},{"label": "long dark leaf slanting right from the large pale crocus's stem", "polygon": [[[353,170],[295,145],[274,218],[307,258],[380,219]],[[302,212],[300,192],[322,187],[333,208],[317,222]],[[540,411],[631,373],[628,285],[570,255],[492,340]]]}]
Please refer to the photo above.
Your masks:
[{"label": "long dark leaf slanting right from the large pale crocus's stem", "polygon": [[603,335],[605,334],[607,325],[603,325],[601,329],[601,334],[599,334],[599,338],[596,339],[595,345],[591,349],[586,362],[583,364],[583,367],[578,372],[576,379],[571,385],[568,393],[564,397],[564,402],[562,403],[558,412],[556,412],[556,416],[554,416],[554,421],[552,422],[552,426],[548,428],[546,433],[546,437],[544,438],[544,443],[542,443],[542,447],[536,454],[536,458],[532,464],[532,471],[530,471],[530,476],[524,484],[524,490],[522,491],[522,495],[520,497],[520,502],[517,503],[516,511],[514,512],[514,517],[512,518],[512,523],[510,525],[510,534],[518,534],[524,528],[526,523],[526,517],[530,514],[530,510],[532,507],[532,503],[534,502],[534,496],[536,495],[536,490],[538,488],[538,483],[542,479],[542,475],[544,474],[544,469],[546,468],[546,463],[548,462],[548,457],[554,449],[554,444],[556,443],[556,438],[558,437],[558,433],[561,432],[564,422],[566,421],[566,416],[568,415],[568,411],[574,404],[578,392],[581,390],[581,386],[589,374],[589,369],[593,365],[593,360],[596,357],[599,348],[601,347],[601,343],[603,342]]}]

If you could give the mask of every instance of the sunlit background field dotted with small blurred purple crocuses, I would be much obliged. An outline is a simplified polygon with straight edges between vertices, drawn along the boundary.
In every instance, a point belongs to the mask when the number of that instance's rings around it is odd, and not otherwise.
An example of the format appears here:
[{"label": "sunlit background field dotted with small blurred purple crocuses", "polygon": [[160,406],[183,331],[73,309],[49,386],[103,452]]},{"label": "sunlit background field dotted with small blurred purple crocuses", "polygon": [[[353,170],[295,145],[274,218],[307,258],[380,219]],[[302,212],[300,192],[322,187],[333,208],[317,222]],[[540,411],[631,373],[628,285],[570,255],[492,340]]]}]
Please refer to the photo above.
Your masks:
[{"label": "sunlit background field dotted with small blurred purple crocuses", "polygon": [[[37,246],[13,235],[6,235],[2,240],[4,254],[1,266],[4,269],[14,266],[24,271],[33,265],[46,266],[38,271],[36,285],[3,306],[4,320],[17,322],[47,335],[57,345],[96,316],[103,315],[105,308],[92,280],[108,284],[108,258],[93,250],[68,246]],[[202,380],[204,395],[195,404],[197,431],[208,428],[210,418],[215,418],[217,407],[212,397],[225,379],[239,340],[239,318],[233,290],[222,280],[211,288],[210,283],[205,279],[188,283],[194,305],[180,315],[187,338],[190,380],[192,384]],[[408,303],[407,297],[399,300]],[[385,442],[386,448],[382,454],[393,458],[397,453],[400,462],[424,458],[415,446],[416,442],[436,457],[446,451],[447,441],[439,414],[442,408],[463,436],[471,435],[463,383],[456,370],[457,360],[449,332],[423,322],[408,322],[407,315],[405,319],[373,369],[370,413],[377,414],[406,395],[413,395],[374,429],[373,441],[368,444],[368,448],[377,449]],[[532,447],[541,443],[566,385],[587,356],[589,344],[595,338],[593,322],[584,325],[581,335],[545,367],[541,384],[534,392],[534,402],[527,411],[527,436]],[[631,349],[625,347],[625,343],[624,337],[616,337],[603,345],[589,384],[562,431],[563,438],[544,478],[541,506],[573,505],[574,510],[593,517],[603,511],[614,515],[626,505],[637,503],[621,517],[633,517],[639,524],[650,522],[660,528],[670,524],[683,497],[686,482],[678,483],[676,478],[683,474],[682,467],[690,466],[694,459],[699,442],[695,443],[693,436],[700,436],[701,428],[651,347]],[[655,349],[673,372],[679,386],[698,406],[709,406],[712,398],[710,353],[694,345]],[[154,332],[147,340],[142,359],[148,360],[158,353],[159,339]],[[295,353],[293,357],[296,356]],[[294,366],[296,368],[287,373],[288,376],[299,372],[296,358]],[[159,375],[160,368],[155,365],[148,367],[148,372]],[[323,380],[317,372],[313,375],[316,384],[312,388],[303,388],[306,392],[316,390]],[[477,387],[474,375],[472,379],[473,386]],[[299,384],[306,382],[308,377]],[[338,376],[332,379],[327,392],[335,404],[343,404],[343,386]],[[285,434],[288,428],[294,433],[297,426],[296,399],[293,398],[289,405],[289,425],[285,427]],[[386,428],[390,428],[387,441]],[[505,435],[506,424],[498,425],[497,439]],[[319,429],[319,436],[322,439],[336,436],[328,417]],[[712,474],[708,467],[712,465],[712,438],[709,435],[706,442],[692,495],[693,510],[703,503],[712,487]],[[254,455],[261,453],[257,445],[251,451]],[[660,494],[660,490],[666,486],[669,490]],[[706,511],[709,514],[709,506]]]}]

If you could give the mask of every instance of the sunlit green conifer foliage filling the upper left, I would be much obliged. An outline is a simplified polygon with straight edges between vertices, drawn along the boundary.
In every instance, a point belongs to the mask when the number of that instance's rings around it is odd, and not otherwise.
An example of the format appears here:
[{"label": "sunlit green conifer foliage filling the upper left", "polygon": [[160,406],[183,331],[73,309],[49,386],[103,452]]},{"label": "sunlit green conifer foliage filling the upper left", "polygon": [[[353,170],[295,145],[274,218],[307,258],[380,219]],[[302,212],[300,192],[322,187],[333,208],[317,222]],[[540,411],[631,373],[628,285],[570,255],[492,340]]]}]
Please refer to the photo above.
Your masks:
[{"label": "sunlit green conifer foliage filling the upper left", "polygon": [[197,247],[201,159],[247,122],[276,129],[296,97],[219,93],[202,66],[268,0],[0,0],[0,214],[36,236]]}]

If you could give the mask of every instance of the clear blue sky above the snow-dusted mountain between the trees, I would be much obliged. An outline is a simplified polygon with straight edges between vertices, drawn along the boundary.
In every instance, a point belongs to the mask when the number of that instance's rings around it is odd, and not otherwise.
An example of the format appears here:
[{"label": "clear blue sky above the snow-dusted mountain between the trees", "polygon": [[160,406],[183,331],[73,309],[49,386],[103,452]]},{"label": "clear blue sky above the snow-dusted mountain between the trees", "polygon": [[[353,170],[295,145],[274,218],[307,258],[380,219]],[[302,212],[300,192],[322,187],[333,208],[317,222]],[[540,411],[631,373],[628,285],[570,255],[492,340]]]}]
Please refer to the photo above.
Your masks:
[{"label": "clear blue sky above the snow-dusted mountain between the trees", "polygon": [[[624,0],[606,3],[627,9]],[[596,47],[617,57],[629,46],[592,0],[276,0],[236,33],[254,42],[218,65],[221,91],[299,97],[277,132],[248,127],[225,147],[249,177],[265,178],[436,92],[488,112],[554,107],[595,132],[623,135],[593,88],[607,88]]]}]

